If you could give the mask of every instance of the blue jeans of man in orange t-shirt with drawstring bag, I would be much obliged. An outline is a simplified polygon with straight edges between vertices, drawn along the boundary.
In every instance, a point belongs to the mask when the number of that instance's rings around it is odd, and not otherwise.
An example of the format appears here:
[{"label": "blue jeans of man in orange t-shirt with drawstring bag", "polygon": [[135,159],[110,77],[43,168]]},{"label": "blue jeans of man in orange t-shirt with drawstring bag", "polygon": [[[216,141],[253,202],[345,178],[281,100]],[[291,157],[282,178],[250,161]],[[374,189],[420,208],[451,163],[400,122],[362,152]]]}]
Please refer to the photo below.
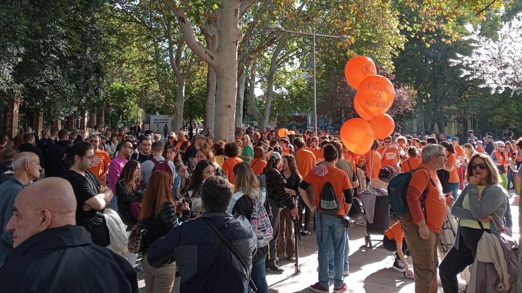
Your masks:
[{"label": "blue jeans of man in orange t-shirt with drawstring bag", "polygon": [[334,286],[340,287],[344,282],[342,268],[344,265],[346,249],[346,227],[342,220],[334,215],[315,214],[315,237],[317,240],[319,262],[319,284],[330,287],[330,276],[328,275],[328,248],[330,241],[334,247]]}]

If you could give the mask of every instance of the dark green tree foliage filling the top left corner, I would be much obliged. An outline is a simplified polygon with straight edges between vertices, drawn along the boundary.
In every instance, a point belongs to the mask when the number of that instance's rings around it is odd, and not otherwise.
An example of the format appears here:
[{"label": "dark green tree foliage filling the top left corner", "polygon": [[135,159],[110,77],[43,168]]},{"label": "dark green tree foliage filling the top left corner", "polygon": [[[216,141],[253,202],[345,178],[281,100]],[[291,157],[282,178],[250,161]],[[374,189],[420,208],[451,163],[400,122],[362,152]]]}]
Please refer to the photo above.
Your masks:
[{"label": "dark green tree foliage filling the top left corner", "polygon": [[105,81],[103,7],[101,0],[4,1],[0,91],[51,118],[92,107]]}]

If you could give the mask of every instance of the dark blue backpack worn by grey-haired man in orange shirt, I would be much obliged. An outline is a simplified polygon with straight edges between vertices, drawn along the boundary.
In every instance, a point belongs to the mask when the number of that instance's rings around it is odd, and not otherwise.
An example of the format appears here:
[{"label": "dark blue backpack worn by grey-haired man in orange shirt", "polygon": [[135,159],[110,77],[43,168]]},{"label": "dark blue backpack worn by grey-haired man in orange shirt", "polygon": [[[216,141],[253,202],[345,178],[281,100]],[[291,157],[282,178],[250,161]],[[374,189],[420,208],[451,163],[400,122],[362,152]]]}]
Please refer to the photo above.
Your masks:
[{"label": "dark blue backpack worn by grey-haired man in orange shirt", "polygon": [[[408,202],[406,201],[406,194],[408,193],[408,186],[410,185],[411,177],[413,177],[413,173],[417,170],[426,168],[417,168],[410,170],[406,173],[397,174],[395,177],[390,180],[388,184],[388,198],[390,200],[390,208],[393,213],[397,217],[404,217],[409,214],[410,209],[408,207]],[[433,183],[433,180],[430,178],[430,181]],[[428,183],[428,187],[422,192],[422,202],[421,207],[424,210],[424,206],[426,203],[426,196],[428,196],[428,189],[430,185]]]}]

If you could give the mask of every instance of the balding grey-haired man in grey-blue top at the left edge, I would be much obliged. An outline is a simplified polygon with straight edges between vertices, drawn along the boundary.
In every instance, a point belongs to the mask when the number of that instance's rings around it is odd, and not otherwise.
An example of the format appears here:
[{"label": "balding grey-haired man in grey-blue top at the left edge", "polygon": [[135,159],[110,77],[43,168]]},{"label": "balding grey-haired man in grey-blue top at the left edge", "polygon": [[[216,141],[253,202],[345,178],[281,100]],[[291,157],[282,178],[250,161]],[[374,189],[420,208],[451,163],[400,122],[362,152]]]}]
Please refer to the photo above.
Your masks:
[{"label": "balding grey-haired man in grey-blue top at the left edge", "polygon": [[13,205],[18,193],[32,180],[40,177],[40,158],[35,153],[23,152],[15,156],[11,164],[15,174],[0,185],[0,263],[13,250],[13,234],[6,230],[13,215]]}]

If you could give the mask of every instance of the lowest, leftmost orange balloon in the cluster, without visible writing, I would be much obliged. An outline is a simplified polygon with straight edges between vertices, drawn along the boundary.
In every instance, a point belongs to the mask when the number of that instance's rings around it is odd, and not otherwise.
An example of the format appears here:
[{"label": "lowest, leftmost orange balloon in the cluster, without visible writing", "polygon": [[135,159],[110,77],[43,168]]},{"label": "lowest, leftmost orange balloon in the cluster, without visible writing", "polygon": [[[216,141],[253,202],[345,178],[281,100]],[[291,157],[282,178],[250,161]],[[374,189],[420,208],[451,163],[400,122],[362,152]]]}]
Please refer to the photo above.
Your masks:
[{"label": "lowest, leftmost orange balloon in the cluster, without visible writing", "polygon": [[364,155],[373,145],[374,133],[368,121],[362,118],[352,118],[342,125],[341,141],[349,151]]}]

